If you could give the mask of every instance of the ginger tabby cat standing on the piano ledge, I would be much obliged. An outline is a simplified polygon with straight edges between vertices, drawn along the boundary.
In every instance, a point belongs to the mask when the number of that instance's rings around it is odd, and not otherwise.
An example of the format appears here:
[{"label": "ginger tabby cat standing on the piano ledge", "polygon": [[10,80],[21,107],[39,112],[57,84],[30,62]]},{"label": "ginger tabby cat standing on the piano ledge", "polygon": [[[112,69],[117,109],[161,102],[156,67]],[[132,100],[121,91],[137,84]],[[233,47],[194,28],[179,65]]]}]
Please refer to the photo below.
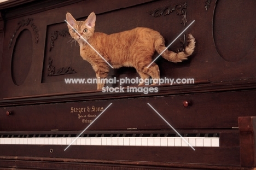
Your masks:
[{"label": "ginger tabby cat standing on the piano ledge", "polygon": [[[156,51],[160,54],[166,48],[165,40],[159,32],[143,27],[110,35],[94,32],[95,13],[91,13],[85,21],[76,21],[70,13],[67,13],[66,20],[80,34],[68,25],[71,37],[79,43],[80,55],[91,64],[97,78],[107,78],[108,76],[109,65],[101,58],[103,56],[114,68],[136,68],[143,80],[150,77],[152,79],[160,79],[158,65],[153,63],[147,68],[152,62],[154,52]],[[101,56],[80,36],[87,40]],[[195,38],[188,34],[188,45],[184,51],[176,53],[166,50],[162,57],[171,62],[181,62],[193,53],[194,48]],[[144,83],[139,85],[144,85]],[[97,89],[100,90],[102,87],[104,87],[104,84],[98,82]]]}]

